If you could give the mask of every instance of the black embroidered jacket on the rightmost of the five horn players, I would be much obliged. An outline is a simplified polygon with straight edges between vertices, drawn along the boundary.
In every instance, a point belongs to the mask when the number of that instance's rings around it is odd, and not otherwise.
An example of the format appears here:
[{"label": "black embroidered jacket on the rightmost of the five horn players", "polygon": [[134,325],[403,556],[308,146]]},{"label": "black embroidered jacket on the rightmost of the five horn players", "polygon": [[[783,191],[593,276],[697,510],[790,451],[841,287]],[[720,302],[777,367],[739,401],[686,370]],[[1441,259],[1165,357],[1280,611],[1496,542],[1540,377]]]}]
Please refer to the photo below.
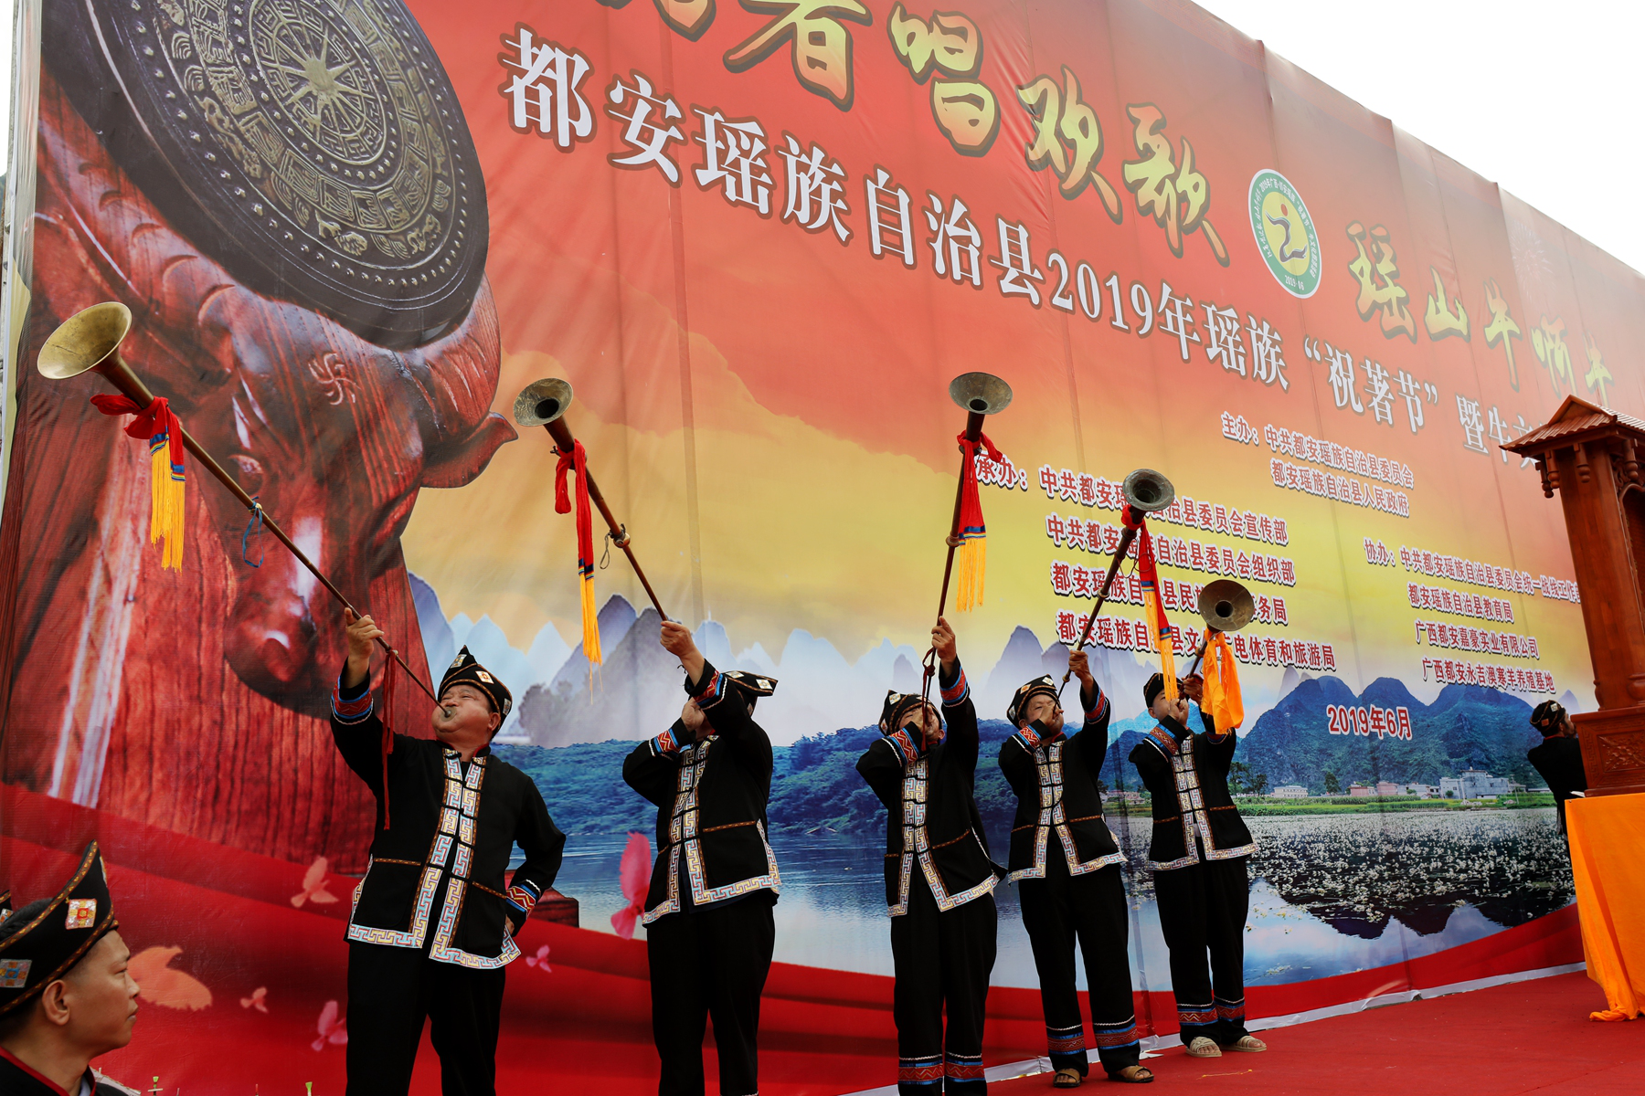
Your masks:
[{"label": "black embroidered jacket on the rightmost of the five horn players", "polygon": [[[1229,764],[1239,744],[1230,730],[1216,733],[1216,723],[1201,713],[1204,735],[1191,735],[1176,720],[1163,720],[1148,738],[1132,748],[1148,795],[1153,799],[1153,841],[1148,859],[1155,871],[1199,863],[1194,836],[1207,859],[1250,856],[1257,843],[1229,795]],[[1181,738],[1179,738],[1181,736]]]}]

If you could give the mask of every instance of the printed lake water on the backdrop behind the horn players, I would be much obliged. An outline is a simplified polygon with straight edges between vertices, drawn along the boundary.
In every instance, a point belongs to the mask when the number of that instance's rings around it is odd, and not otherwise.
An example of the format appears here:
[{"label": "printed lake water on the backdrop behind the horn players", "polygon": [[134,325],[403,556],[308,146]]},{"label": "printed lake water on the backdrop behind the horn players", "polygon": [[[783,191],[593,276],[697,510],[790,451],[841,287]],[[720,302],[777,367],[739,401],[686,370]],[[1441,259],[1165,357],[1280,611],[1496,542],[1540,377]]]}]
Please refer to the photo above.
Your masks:
[{"label": "printed lake water on the backdrop behind the horn players", "polygon": [[[538,751],[502,748],[517,762],[523,761],[520,753]],[[982,766],[989,764],[985,756]],[[543,787],[551,808],[554,790]],[[610,794],[619,799],[628,789],[619,781]],[[1245,978],[1253,986],[1431,955],[1553,912],[1573,896],[1564,841],[1550,807],[1252,817],[1249,825],[1258,846],[1245,928]],[[1132,853],[1125,882],[1133,978],[1138,989],[1161,989],[1170,978],[1143,858],[1147,808],[1110,813],[1109,827]],[[651,838],[650,825],[637,831]],[[989,835],[997,856],[1003,836],[1003,830]],[[612,914],[628,904],[619,884],[627,843],[627,833],[569,838],[556,887],[581,904],[582,928],[610,932]],[[778,827],[772,846],[783,873],[776,960],[892,974],[880,876],[883,831],[804,833]],[[1036,986],[1017,887],[1002,882],[995,899],[1000,932],[994,984]],[[1084,988],[1082,971],[1079,978]]]}]

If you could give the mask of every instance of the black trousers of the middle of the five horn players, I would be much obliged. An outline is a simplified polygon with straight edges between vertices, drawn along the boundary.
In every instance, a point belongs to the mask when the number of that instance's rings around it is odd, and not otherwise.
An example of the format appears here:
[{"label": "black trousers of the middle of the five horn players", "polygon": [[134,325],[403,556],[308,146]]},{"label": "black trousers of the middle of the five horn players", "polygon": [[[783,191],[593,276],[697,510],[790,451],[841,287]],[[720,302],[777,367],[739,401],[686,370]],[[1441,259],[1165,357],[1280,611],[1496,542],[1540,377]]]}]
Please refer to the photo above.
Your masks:
[{"label": "black trousers of the middle of the five horn players", "polygon": [[[994,896],[938,912],[915,864],[908,912],[892,919],[897,989],[897,1091],[901,1096],[985,1093],[982,1019],[999,920]],[[948,1011],[948,1030],[943,1012]]]}]

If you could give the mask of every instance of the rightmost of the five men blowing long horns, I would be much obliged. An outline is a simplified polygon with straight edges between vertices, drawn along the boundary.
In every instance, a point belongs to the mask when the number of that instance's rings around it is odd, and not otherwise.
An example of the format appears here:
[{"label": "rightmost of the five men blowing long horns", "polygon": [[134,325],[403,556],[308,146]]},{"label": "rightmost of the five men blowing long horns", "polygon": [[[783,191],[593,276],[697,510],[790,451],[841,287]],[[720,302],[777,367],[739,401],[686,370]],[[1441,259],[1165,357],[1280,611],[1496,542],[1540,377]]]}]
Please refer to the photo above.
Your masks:
[{"label": "rightmost of the five men blowing long horns", "polygon": [[[1209,665],[1209,664],[1207,664]],[[1204,680],[1168,682],[1155,674],[1142,698],[1158,725],[1130,753],[1153,799],[1153,892],[1171,950],[1171,992],[1183,1043],[1196,1058],[1222,1050],[1267,1050],[1245,1030],[1247,863],[1257,843],[1229,795],[1235,728],[1217,730],[1201,711],[1202,735],[1188,730],[1188,702]],[[1209,974],[1206,951],[1211,953]]]}]

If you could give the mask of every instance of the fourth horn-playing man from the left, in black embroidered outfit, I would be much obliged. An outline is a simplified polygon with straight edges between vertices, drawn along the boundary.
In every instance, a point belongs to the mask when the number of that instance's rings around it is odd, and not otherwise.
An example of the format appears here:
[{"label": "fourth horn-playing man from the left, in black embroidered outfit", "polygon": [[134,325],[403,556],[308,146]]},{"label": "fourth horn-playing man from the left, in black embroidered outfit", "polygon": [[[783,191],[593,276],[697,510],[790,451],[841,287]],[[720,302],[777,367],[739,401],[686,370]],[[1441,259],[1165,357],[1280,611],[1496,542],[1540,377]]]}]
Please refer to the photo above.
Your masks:
[{"label": "fourth horn-playing man from the left, in black embroidered outfit", "polygon": [[1069,656],[1068,669],[1079,679],[1086,713],[1077,735],[1063,735],[1058,684],[1050,675],[1018,688],[1005,710],[1017,728],[1000,746],[1000,769],[1017,792],[1007,868],[1040,973],[1045,1037],[1056,1070],[1051,1086],[1077,1088],[1091,1070],[1074,986],[1076,937],[1086,958],[1097,1058],[1110,1080],[1147,1084],[1153,1073],[1138,1065],[1142,1043],[1125,950],[1125,854],[1102,820],[1097,785],[1109,753],[1110,705],[1084,651]]}]

